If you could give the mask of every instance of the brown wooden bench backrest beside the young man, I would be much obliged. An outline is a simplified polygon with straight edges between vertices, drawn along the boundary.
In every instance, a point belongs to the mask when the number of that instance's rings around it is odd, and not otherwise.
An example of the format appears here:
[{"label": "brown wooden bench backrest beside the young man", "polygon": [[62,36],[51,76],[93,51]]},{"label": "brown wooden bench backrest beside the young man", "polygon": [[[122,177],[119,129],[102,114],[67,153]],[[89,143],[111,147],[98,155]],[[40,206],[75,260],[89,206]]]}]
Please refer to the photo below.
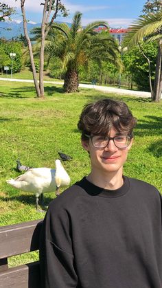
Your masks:
[{"label": "brown wooden bench backrest beside the young man", "polygon": [[38,250],[42,220],[0,227],[0,287],[40,288],[39,262],[8,267],[8,257]]}]

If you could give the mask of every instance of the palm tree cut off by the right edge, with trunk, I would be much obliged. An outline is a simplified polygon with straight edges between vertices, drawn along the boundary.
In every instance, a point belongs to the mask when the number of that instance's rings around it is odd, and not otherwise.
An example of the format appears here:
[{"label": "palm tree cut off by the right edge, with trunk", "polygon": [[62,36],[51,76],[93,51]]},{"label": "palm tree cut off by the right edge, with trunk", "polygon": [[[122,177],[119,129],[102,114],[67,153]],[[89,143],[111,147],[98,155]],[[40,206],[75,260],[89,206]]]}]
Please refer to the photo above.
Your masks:
[{"label": "palm tree cut off by the right edge, with trunk", "polygon": [[162,10],[157,13],[139,16],[139,19],[130,25],[122,45],[123,47],[128,47],[128,49],[130,49],[135,45],[138,45],[140,41],[159,42],[154,91],[152,95],[152,100],[159,102],[162,92]]}]

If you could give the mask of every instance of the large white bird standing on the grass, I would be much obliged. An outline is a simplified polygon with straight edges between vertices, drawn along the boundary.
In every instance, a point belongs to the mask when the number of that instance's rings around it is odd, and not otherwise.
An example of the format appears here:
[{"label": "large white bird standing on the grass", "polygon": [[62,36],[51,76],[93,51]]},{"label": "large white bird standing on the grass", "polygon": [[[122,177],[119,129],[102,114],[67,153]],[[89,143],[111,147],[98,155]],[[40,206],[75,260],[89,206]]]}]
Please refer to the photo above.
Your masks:
[{"label": "large white bird standing on the grass", "polygon": [[70,184],[70,177],[60,160],[56,159],[55,164],[56,169],[31,168],[23,175],[6,180],[6,182],[14,188],[25,192],[33,192],[36,195],[36,210],[38,210],[39,196],[43,200],[43,193],[56,191],[56,195],[58,195],[61,186]]}]

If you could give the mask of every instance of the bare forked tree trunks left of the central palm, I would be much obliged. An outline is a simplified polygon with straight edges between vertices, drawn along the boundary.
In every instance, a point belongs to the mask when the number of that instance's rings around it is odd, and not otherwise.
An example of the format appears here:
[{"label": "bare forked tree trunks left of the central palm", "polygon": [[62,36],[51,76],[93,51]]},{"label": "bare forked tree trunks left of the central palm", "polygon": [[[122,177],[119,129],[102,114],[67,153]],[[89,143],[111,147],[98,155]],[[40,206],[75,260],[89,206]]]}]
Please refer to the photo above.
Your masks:
[{"label": "bare forked tree trunks left of the central palm", "polygon": [[27,32],[25,0],[21,0],[21,11],[23,14],[23,29],[24,29],[24,34],[25,34],[27,46],[28,46],[29,53],[30,53],[30,62],[32,65],[32,73],[33,73],[33,78],[34,78],[34,85],[36,88],[36,95],[38,98],[41,98],[41,97],[44,98],[43,67],[44,67],[45,38],[47,37],[47,34],[49,33],[49,30],[51,28],[51,25],[54,22],[54,19],[56,19],[56,16],[58,15],[58,12],[60,12],[63,16],[67,16],[67,10],[65,9],[65,6],[62,5],[60,0],[45,0],[43,3],[40,3],[40,5],[43,5],[43,17],[42,17],[42,23],[41,23],[39,83],[38,83],[38,80],[36,79],[36,67],[34,65],[32,43],[31,43],[29,34]]}]

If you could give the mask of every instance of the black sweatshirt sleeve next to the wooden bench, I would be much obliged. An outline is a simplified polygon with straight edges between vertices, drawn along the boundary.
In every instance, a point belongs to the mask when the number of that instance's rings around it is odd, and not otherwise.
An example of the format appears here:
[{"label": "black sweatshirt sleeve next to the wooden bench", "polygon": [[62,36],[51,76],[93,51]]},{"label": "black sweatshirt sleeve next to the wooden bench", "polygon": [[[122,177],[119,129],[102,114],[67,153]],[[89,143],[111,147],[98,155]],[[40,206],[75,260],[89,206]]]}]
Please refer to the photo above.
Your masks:
[{"label": "black sweatshirt sleeve next to the wooden bench", "polygon": [[59,208],[57,201],[52,201],[40,233],[40,278],[42,288],[78,287],[70,226],[67,210],[61,206]]}]

